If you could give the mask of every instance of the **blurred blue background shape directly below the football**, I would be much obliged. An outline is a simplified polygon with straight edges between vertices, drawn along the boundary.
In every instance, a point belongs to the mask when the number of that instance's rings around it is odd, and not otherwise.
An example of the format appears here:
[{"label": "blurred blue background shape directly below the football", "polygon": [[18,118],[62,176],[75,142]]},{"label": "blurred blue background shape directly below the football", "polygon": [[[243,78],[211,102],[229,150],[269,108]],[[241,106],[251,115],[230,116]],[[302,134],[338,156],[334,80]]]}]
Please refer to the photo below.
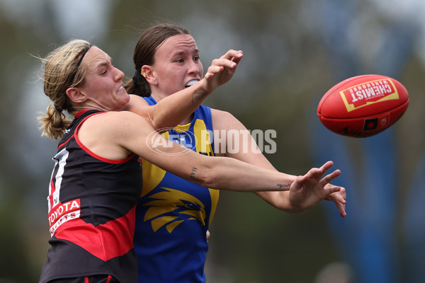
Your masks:
[{"label": "blurred blue background shape directly below the football", "polygon": [[347,189],[346,218],[341,219],[334,204],[324,205],[329,231],[341,257],[353,268],[356,282],[398,282],[397,174],[392,129],[354,141],[360,147],[359,156],[348,148],[347,141],[352,138],[336,136],[317,121],[312,125],[315,161],[334,161],[334,168],[341,169],[334,185]]}]

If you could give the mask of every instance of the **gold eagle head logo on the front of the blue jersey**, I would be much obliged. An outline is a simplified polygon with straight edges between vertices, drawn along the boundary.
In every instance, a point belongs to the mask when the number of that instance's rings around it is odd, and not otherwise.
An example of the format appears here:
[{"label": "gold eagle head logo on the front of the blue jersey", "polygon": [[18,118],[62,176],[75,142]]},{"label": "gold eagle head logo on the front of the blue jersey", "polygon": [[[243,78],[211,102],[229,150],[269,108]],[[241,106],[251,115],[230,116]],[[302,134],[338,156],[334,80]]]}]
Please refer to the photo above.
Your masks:
[{"label": "gold eagle head logo on the front of the blue jersey", "polygon": [[162,226],[171,233],[184,221],[198,220],[205,226],[205,206],[193,195],[181,190],[162,187],[164,191],[157,192],[149,198],[154,199],[142,204],[149,207],[144,221],[151,221],[152,229],[157,231]]}]

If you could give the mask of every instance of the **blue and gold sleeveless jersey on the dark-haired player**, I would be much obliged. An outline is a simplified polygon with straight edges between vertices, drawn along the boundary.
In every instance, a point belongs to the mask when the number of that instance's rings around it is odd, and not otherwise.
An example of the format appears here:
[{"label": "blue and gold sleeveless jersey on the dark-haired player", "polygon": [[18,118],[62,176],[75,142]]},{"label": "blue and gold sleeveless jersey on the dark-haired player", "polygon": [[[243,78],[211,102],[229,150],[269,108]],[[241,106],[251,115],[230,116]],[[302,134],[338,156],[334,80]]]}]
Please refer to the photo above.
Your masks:
[{"label": "blue and gold sleeveless jersey on the dark-haired player", "polygon": [[[150,105],[156,103],[152,97],[145,100]],[[164,136],[213,156],[210,111],[200,105],[190,124],[171,129]],[[206,232],[219,191],[179,178],[143,159],[142,171],[134,241],[139,282],[205,282]]]}]

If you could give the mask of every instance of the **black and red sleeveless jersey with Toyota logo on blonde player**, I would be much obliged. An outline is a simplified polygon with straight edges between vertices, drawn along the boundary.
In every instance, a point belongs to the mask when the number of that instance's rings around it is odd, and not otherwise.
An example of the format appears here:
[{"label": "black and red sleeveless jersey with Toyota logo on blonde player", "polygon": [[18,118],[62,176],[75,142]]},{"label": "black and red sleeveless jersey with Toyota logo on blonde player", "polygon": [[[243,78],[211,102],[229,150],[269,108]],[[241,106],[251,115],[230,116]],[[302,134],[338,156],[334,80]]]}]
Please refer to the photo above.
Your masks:
[{"label": "black and red sleeveless jersey with Toyota logo on blonde player", "polygon": [[132,241],[142,168],[135,154],[110,160],[81,144],[79,126],[99,113],[78,112],[53,157],[47,197],[52,238],[40,282],[90,275],[137,282]]}]

